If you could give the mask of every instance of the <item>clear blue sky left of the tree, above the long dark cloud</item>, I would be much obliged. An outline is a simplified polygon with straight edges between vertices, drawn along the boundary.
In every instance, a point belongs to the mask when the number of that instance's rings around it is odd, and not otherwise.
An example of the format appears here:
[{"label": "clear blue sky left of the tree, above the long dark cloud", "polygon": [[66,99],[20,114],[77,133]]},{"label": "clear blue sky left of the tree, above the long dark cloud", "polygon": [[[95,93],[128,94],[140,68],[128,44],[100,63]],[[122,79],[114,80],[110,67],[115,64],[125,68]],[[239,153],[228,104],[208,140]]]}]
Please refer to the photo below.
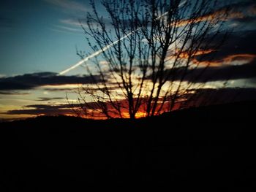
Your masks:
[{"label": "clear blue sky left of the tree, above the long dark cloud", "polygon": [[[80,26],[86,1],[1,1],[1,75],[59,72],[79,61],[75,46],[88,49]],[[83,11],[85,9],[85,11]]]}]

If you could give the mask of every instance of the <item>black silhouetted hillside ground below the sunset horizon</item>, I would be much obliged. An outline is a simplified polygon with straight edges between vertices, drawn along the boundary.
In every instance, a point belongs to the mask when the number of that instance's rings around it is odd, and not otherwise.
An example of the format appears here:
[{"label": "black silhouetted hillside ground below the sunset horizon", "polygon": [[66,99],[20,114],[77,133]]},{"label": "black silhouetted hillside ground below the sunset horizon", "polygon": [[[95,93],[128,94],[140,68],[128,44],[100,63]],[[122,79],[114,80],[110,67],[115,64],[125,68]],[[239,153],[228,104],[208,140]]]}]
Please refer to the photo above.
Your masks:
[{"label": "black silhouetted hillside ground below the sunset horizon", "polygon": [[255,109],[247,101],[135,121],[1,123],[0,191],[134,184],[252,191]]}]

